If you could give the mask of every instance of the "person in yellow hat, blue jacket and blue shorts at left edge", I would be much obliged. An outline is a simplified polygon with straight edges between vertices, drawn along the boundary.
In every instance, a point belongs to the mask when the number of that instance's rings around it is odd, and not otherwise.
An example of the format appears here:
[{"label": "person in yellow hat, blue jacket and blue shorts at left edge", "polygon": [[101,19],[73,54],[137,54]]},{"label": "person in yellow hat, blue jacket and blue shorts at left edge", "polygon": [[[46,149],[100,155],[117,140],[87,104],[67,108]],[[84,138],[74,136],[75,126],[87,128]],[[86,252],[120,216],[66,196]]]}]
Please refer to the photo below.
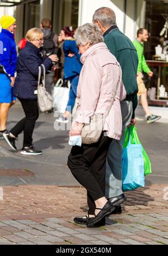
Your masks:
[{"label": "person in yellow hat, blue jacket and blue shorts at left edge", "polygon": [[16,43],[13,32],[16,28],[16,19],[12,16],[2,16],[0,20],[0,138],[6,131],[7,117],[10,106],[15,104],[13,86],[17,62]]}]

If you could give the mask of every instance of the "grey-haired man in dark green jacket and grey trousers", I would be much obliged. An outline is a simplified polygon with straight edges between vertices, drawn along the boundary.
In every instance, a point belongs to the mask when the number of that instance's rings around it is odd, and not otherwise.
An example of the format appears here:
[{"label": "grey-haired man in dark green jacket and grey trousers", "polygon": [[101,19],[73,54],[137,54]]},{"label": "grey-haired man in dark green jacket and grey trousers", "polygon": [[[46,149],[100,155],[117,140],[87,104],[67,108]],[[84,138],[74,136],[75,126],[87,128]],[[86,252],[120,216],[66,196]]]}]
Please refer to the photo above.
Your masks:
[{"label": "grey-haired man in dark green jacket and grey trousers", "polygon": [[125,127],[136,123],[134,111],[137,107],[137,68],[136,48],[116,25],[113,10],[101,7],[95,11],[92,22],[99,26],[110,52],[116,57],[123,72],[123,83],[127,97],[121,102],[123,131],[120,141],[113,140],[106,161],[106,197],[116,207],[116,213],[122,212],[121,204],[126,200],[122,191],[122,153]]}]

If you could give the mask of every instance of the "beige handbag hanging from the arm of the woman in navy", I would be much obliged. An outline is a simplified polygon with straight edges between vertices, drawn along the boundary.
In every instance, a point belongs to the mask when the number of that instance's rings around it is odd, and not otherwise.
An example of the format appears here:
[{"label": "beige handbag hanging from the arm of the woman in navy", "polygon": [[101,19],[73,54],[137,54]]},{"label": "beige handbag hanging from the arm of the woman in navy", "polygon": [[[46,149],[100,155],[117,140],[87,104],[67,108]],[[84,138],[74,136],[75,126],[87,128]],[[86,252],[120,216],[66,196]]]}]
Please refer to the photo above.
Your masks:
[{"label": "beige handbag hanging from the arm of the woman in navy", "polygon": [[[41,66],[43,66],[44,74],[41,79]],[[51,110],[53,107],[53,99],[49,92],[45,89],[45,66],[39,66],[39,79],[38,79],[38,104],[41,112]],[[40,84],[40,80],[42,83]]]}]

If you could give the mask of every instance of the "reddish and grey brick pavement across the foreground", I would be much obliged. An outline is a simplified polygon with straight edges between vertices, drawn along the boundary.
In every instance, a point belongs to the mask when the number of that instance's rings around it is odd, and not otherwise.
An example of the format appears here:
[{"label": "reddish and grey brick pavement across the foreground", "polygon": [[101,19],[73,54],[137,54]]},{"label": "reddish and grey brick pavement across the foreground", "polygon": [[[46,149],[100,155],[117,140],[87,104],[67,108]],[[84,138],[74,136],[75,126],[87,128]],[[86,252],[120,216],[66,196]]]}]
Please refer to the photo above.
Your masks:
[{"label": "reddish and grey brick pavement across the foreground", "polygon": [[80,186],[3,187],[0,244],[168,244],[164,189],[165,185],[152,185],[126,192],[123,214],[111,215],[104,227],[87,228],[73,223],[87,210],[86,192]]}]

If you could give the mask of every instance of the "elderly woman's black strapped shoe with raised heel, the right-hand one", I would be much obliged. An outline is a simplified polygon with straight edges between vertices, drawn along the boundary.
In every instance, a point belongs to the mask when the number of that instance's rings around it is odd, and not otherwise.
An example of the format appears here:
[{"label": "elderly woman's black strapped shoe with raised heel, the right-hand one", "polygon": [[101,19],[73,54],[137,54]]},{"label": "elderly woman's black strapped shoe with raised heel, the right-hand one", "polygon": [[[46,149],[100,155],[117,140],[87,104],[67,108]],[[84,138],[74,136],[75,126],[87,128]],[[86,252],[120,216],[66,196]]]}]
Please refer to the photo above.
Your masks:
[{"label": "elderly woman's black strapped shoe with raised heel, the right-hand one", "polygon": [[110,215],[110,213],[115,210],[115,207],[108,201],[102,209],[96,209],[100,210],[100,212],[94,218],[91,218],[89,221],[87,221],[87,227],[95,226],[95,224],[99,223],[102,219],[104,219],[105,216]]}]

